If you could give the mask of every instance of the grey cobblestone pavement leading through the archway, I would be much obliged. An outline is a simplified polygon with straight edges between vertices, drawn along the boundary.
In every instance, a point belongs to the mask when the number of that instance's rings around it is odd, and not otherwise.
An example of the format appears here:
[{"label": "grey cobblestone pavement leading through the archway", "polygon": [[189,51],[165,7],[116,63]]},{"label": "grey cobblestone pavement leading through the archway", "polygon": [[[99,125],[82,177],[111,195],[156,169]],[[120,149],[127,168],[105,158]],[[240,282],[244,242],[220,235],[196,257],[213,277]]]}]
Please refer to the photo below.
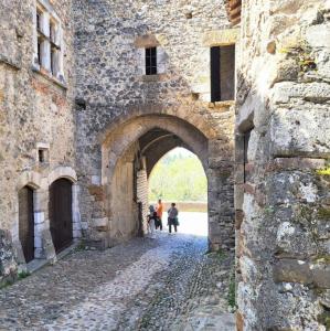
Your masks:
[{"label": "grey cobblestone pavement leading through the archway", "polygon": [[234,330],[233,256],[205,252],[166,233],[74,252],[0,290],[0,330]]}]

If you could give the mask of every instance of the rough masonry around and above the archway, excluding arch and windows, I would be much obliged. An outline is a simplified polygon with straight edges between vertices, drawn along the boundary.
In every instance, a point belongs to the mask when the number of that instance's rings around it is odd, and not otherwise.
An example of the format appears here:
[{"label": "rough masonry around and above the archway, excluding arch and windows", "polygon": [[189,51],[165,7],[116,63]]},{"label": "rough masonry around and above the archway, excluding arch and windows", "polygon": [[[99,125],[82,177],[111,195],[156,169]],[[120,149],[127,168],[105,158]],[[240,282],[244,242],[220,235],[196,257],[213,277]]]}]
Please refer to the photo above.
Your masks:
[{"label": "rough masonry around and above the archway, excluding arch and windows", "polygon": [[[210,237],[214,248],[233,245],[233,103],[212,108],[209,104],[210,46],[221,38],[234,41],[231,33],[213,33],[230,28],[222,1],[76,0],[74,22],[77,162],[88,236],[95,241],[104,236],[88,227],[95,211],[88,188],[98,185],[106,192],[105,182],[111,180],[102,175],[102,159],[117,162],[116,146],[103,149],[114,129],[109,126],[159,114],[184,119],[209,137],[209,154],[202,161],[210,179]],[[157,76],[143,75],[143,45],[159,47]],[[105,205],[98,213],[104,222],[110,217]]]}]

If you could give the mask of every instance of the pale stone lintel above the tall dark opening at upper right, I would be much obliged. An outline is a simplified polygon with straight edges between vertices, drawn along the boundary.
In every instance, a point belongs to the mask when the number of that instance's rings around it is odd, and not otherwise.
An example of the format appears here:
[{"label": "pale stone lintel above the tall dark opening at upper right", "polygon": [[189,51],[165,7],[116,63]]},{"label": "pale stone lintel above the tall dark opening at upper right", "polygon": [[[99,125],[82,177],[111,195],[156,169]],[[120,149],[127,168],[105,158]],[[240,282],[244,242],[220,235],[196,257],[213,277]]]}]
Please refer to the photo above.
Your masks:
[{"label": "pale stone lintel above the tall dark opening at upper right", "polygon": [[224,29],[207,31],[203,38],[204,46],[226,46],[235,44],[239,36],[239,29]]}]

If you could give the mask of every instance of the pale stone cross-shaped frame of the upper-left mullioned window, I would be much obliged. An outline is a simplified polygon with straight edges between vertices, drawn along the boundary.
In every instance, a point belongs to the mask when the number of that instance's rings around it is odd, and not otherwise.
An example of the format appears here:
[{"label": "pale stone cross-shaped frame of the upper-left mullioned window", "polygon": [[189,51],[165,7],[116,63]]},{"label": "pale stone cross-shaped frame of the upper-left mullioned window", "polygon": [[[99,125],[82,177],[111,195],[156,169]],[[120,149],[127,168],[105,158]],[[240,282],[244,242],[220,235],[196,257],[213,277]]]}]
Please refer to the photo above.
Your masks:
[{"label": "pale stone cross-shaped frame of the upper-left mullioned window", "polygon": [[[41,13],[40,30],[38,29],[36,24],[38,11]],[[51,24],[54,26],[52,35]],[[40,54],[41,63],[39,63],[39,40],[42,40]],[[33,68],[36,71],[44,70],[53,78],[65,83],[63,70],[63,30],[61,20],[55,13],[53,7],[50,4],[49,0],[35,1],[33,9]]]}]

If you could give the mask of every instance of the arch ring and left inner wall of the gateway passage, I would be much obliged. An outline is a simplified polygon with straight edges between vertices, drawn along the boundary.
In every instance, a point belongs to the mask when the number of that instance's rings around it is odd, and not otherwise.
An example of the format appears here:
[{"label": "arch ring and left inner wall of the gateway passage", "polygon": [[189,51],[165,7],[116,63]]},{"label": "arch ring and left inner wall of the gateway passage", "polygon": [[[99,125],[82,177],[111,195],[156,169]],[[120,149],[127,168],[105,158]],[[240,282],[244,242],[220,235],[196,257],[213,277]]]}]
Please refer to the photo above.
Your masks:
[{"label": "arch ring and left inner wall of the gateway passage", "polygon": [[[113,241],[146,229],[148,175],[159,159],[174,147],[192,150],[207,167],[207,138],[192,125],[172,116],[141,116],[119,126],[107,137],[103,145],[103,183]],[[139,215],[143,220],[139,220]]]}]

